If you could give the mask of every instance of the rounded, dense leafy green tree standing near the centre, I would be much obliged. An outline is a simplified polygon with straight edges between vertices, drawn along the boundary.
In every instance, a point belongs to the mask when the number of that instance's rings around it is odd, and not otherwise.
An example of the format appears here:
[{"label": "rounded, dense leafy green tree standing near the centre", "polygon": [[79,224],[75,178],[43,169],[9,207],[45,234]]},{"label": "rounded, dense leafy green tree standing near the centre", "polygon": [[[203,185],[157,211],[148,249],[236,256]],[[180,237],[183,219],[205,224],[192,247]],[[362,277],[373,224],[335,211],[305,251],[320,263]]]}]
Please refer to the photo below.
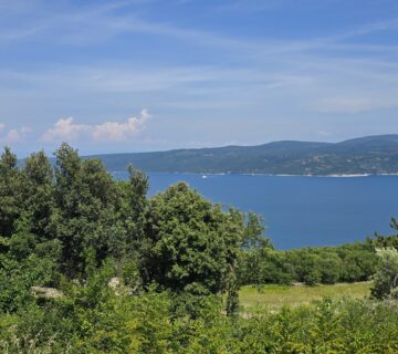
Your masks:
[{"label": "rounded, dense leafy green tree standing near the centre", "polygon": [[232,289],[242,220],[239,212],[222,211],[184,183],[153,197],[140,258],[144,280],[176,293]]}]

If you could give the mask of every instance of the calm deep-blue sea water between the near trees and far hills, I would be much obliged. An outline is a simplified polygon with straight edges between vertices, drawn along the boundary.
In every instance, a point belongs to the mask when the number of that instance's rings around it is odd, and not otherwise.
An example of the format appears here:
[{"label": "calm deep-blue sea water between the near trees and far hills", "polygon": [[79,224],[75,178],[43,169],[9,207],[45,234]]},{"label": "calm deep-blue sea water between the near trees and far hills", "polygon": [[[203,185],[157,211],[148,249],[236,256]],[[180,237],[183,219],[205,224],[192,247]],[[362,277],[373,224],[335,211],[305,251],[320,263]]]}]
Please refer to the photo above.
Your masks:
[{"label": "calm deep-blue sea water between the near trees and far hills", "polygon": [[398,217],[398,176],[149,174],[149,195],[179,180],[213,202],[263,216],[265,235],[277,249],[342,244],[375,231],[388,235],[390,218]]}]

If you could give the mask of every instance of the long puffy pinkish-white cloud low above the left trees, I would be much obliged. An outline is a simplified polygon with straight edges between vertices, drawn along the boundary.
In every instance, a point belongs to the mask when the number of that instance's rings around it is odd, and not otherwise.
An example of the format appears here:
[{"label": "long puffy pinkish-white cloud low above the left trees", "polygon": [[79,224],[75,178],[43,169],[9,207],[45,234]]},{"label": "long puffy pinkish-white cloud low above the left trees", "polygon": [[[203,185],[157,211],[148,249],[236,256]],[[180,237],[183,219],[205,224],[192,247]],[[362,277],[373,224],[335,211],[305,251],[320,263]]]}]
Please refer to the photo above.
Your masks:
[{"label": "long puffy pinkish-white cloud low above the left trees", "polygon": [[144,108],[139,117],[130,117],[124,123],[104,122],[97,125],[88,125],[75,124],[73,117],[61,118],[43,134],[41,139],[50,143],[86,136],[96,142],[121,142],[139,134],[149,117],[148,111]]}]

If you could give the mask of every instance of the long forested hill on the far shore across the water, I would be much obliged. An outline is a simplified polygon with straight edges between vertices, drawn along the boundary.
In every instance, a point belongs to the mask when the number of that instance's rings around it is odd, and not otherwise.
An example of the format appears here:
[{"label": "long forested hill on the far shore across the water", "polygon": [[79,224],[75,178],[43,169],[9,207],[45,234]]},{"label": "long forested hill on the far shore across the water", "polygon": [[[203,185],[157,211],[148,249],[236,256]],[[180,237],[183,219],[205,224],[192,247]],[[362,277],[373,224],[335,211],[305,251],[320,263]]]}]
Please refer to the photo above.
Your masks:
[{"label": "long forested hill on the far shore across the water", "polygon": [[258,146],[175,149],[157,153],[108,154],[108,170],[133,164],[145,171],[270,175],[348,175],[398,173],[398,134],[342,143],[284,140]]}]

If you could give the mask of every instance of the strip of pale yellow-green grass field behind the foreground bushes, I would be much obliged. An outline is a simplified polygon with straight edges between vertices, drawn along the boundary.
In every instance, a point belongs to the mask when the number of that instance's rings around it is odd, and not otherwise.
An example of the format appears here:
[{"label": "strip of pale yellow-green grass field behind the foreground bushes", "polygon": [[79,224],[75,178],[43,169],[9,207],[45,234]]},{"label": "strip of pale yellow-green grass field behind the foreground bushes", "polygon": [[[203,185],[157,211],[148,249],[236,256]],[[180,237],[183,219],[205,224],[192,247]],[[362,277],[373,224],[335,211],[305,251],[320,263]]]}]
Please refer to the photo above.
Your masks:
[{"label": "strip of pale yellow-green grass field behind the foreground bushes", "polygon": [[270,284],[264,285],[261,290],[255,287],[243,287],[240,290],[239,298],[242,312],[250,312],[262,306],[276,310],[283,305],[307,304],[325,296],[362,299],[369,295],[370,285],[370,282],[317,287]]}]

